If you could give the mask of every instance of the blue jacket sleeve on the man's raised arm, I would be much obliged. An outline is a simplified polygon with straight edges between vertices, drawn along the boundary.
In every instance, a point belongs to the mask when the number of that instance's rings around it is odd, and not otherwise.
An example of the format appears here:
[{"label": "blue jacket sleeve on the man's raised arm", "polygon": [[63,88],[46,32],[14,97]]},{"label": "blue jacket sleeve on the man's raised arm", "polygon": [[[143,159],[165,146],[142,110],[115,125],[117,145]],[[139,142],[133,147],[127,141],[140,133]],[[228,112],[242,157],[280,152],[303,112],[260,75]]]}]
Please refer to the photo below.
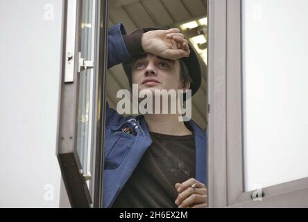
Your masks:
[{"label": "blue jacket sleeve on the man's raised arm", "polygon": [[126,30],[121,23],[108,29],[108,69],[130,59],[123,35]]}]

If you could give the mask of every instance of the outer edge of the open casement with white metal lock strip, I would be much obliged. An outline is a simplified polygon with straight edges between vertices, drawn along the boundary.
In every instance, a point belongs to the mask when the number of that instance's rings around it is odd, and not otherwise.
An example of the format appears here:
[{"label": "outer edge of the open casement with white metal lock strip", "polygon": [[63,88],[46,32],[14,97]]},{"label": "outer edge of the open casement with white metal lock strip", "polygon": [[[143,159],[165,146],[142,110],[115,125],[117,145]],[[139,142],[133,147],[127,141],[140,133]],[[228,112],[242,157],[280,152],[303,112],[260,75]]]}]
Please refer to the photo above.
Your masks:
[{"label": "outer edge of the open casement with white metal lock strip", "polygon": [[[63,1],[62,76],[58,117],[57,157],[71,207],[89,207],[91,198],[76,150],[78,109],[78,51],[80,51],[80,13],[82,1]],[[79,34],[79,35],[78,35]],[[73,59],[67,62],[70,53]]]}]

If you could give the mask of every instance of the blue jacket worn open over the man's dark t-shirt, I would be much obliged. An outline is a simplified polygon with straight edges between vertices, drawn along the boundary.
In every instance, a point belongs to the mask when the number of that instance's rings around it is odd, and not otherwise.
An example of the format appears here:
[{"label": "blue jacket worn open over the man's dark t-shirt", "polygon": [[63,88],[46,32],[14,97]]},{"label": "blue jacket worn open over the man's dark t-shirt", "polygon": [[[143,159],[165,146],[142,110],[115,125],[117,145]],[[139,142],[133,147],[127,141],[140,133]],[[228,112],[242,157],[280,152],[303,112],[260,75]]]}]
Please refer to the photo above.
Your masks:
[{"label": "blue jacket worn open over the man's dark t-shirt", "polygon": [[[130,55],[123,42],[126,34],[121,24],[112,26],[108,39],[108,67],[128,60]],[[137,135],[122,133],[123,125],[135,129]],[[194,131],[196,146],[196,180],[207,185],[207,137],[194,122],[189,121]],[[137,164],[151,146],[152,139],[143,116],[123,117],[107,103],[105,120],[105,166],[103,175],[103,207],[111,207]]]}]

